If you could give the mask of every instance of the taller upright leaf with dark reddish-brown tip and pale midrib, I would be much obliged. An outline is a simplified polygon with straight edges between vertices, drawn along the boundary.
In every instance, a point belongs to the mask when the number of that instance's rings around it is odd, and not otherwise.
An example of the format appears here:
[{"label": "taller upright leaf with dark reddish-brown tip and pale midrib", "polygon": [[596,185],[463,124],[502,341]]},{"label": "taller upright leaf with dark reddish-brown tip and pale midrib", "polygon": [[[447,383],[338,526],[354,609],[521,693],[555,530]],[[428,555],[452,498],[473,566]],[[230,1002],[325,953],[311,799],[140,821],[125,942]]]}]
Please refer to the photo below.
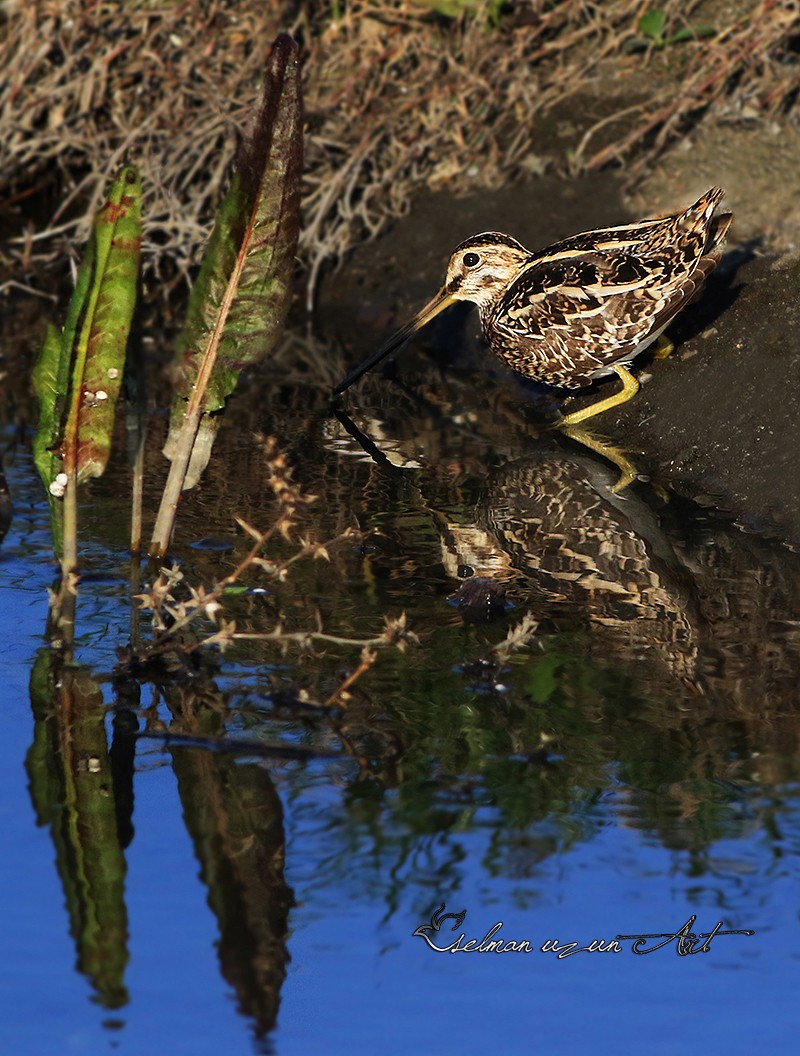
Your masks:
[{"label": "taller upright leaf with dark reddish-brown tip and pale midrib", "polygon": [[[189,397],[199,390],[202,413],[218,412],[242,369],[278,342],[291,299],[302,164],[299,50],[282,34],[267,59],[261,110],[240,151],[176,343],[169,458],[179,449]],[[185,487],[205,468],[216,425],[204,418],[206,451],[194,457]]]}]

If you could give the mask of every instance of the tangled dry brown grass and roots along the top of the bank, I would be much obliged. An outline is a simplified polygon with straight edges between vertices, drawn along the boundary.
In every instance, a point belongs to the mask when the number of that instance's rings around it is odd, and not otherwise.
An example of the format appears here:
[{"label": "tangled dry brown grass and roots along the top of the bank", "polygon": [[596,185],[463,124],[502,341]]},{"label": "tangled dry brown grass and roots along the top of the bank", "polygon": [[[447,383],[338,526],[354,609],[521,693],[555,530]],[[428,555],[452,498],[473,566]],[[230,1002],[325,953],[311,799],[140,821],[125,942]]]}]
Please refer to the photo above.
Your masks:
[{"label": "tangled dry brown grass and roots along the top of the bank", "polygon": [[[716,33],[659,50],[637,31],[648,6],[672,29],[710,20]],[[0,264],[19,278],[80,242],[125,158],[145,175],[147,272],[165,289],[180,281],[286,27],[305,52],[311,289],[421,186],[457,193],[549,165],[649,158],[715,110],[796,116],[795,0],[519,0],[490,20],[497,11],[489,0],[5,0]],[[548,116],[596,90],[611,100],[603,119],[546,148]]]}]

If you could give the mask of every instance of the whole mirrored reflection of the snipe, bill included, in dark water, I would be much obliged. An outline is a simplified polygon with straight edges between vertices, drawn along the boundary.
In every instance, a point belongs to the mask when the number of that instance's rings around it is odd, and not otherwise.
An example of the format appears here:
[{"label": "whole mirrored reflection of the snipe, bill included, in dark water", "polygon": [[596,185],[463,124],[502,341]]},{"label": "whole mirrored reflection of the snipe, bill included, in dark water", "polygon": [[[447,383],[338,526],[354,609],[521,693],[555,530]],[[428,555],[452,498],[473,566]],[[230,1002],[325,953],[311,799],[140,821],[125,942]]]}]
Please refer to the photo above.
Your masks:
[{"label": "whole mirrored reflection of the snipe, bill included, in dark water", "polygon": [[[402,472],[337,417],[376,463]],[[447,465],[461,479],[463,465],[442,454],[431,459],[439,484]],[[615,493],[615,478],[605,460],[551,434],[546,450],[489,476],[477,510],[464,505],[462,488],[458,497],[446,488],[432,493],[430,479],[419,503],[434,517],[444,571],[460,582],[453,601],[468,622],[504,615],[513,599],[561,629],[609,628],[629,658],[650,646],[666,652],[670,667],[693,680],[697,618],[686,573],[655,514],[633,491]]]}]

